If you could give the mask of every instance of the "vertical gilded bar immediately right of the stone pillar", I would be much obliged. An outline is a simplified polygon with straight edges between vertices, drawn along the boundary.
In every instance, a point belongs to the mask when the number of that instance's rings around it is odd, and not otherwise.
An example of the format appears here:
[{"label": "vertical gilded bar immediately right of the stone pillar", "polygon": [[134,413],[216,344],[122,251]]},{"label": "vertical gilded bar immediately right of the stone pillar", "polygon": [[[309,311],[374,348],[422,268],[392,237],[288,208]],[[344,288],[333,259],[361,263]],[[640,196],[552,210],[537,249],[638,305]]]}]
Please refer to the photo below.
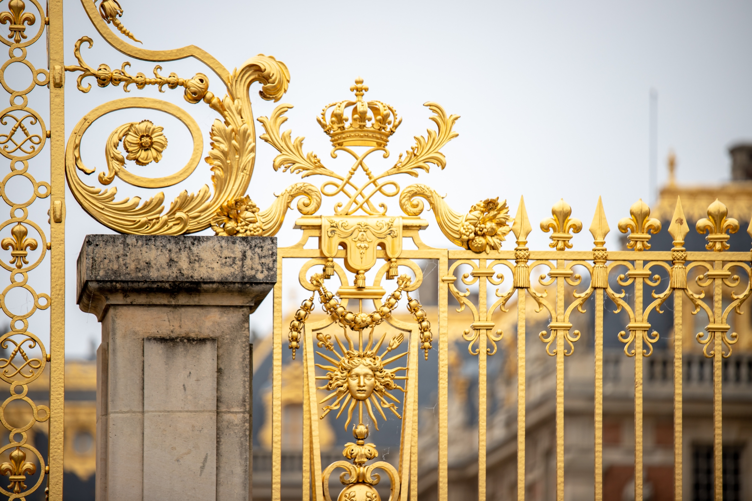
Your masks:
[{"label": "vertical gilded bar immediately right of the stone pillar", "polygon": [[271,347],[271,501],[280,501],[282,481],[282,263],[277,252],[274,284],[274,346]]}]

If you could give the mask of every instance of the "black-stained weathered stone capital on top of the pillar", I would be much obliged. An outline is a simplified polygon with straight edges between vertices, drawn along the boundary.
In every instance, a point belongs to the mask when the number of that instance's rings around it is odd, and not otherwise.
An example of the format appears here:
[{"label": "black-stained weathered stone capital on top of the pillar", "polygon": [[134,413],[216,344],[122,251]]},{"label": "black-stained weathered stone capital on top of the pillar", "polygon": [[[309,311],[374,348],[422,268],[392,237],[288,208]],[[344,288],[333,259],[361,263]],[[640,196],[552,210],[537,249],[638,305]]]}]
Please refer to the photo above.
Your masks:
[{"label": "black-stained weathered stone capital on top of the pillar", "polygon": [[102,321],[109,306],[251,306],[277,280],[275,237],[87,235],[76,302]]}]

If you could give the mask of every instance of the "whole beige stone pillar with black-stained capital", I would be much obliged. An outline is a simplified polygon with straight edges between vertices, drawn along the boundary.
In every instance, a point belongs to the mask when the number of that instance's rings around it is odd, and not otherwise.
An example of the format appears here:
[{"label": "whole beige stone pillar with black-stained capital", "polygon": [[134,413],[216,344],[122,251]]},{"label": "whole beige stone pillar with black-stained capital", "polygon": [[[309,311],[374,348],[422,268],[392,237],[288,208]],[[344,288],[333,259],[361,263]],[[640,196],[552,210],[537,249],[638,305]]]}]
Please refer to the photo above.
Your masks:
[{"label": "whole beige stone pillar with black-stained capital", "polygon": [[273,237],[86,237],[98,501],[248,499],[248,315],[276,276]]}]

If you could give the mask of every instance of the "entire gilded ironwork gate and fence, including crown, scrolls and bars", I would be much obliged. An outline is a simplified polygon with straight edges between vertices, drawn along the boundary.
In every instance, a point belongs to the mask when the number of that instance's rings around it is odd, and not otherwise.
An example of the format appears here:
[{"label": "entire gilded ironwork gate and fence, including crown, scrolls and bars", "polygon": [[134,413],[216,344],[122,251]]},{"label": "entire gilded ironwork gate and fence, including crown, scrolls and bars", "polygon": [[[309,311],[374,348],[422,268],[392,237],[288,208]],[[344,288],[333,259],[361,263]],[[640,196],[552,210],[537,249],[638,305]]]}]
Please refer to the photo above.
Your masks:
[{"label": "entire gilded ironwork gate and fence, including crown, scrolls and bars", "polygon": [[[198,47],[175,50],[147,50],[130,44],[135,34],[123,26],[123,8],[116,0],[82,0],[92,26],[112,47],[126,56],[150,62],[166,62],[194,58],[208,66],[226,88],[220,98],[209,91],[209,77],[196,73],[191,78],[171,73],[166,77],[153,68],[153,77],[143,73],[130,74],[129,63],[120,69],[107,64],[86,63],[82,47],[92,46],[92,39],[80,38],[72,49],[76,65],[65,65],[62,41],[62,0],[50,0],[42,8],[37,0],[10,0],[9,11],[0,13],[0,23],[9,23],[10,35],[2,38],[9,47],[5,71],[13,62],[26,65],[33,81],[26,89],[11,88],[2,75],[5,90],[11,95],[10,106],[2,112],[0,134],[2,154],[10,161],[9,174],[2,180],[2,196],[11,207],[10,218],[2,225],[10,237],[2,240],[2,249],[10,252],[2,266],[11,275],[11,285],[2,293],[2,307],[11,318],[9,331],[0,345],[10,355],[0,359],[4,370],[0,377],[10,385],[11,396],[2,404],[23,400],[33,410],[33,421],[14,427],[2,418],[8,429],[9,443],[0,448],[10,451],[10,463],[0,465],[0,474],[8,475],[8,490],[0,492],[10,499],[23,498],[41,488],[49,475],[47,488],[50,499],[62,499],[62,412],[64,375],[64,221],[65,186],[92,217],[109,228],[131,234],[188,234],[212,228],[217,235],[231,237],[271,236],[284,223],[290,204],[299,198],[301,216],[295,228],[301,232],[299,243],[278,251],[277,285],[274,288],[274,348],[272,371],[272,499],[280,499],[282,430],[282,380],[284,350],[303,361],[304,391],[303,435],[303,499],[332,499],[330,476],[336,469],[340,475],[338,499],[381,499],[374,487],[379,481],[389,484],[390,499],[417,499],[418,412],[417,367],[430,357],[438,358],[438,499],[447,499],[448,482],[448,382],[449,337],[448,315],[450,295],[459,310],[470,312],[462,332],[468,351],[478,358],[478,497],[487,496],[487,364],[498,356],[499,341],[504,333],[493,315],[496,312],[514,315],[507,305],[517,306],[517,499],[525,499],[525,436],[526,436],[526,302],[535,309],[548,312],[550,322],[540,333],[545,350],[556,367],[556,499],[564,496],[564,367],[581,337],[572,330],[570,315],[577,309],[586,313],[587,301],[593,298],[594,357],[594,423],[595,499],[602,499],[602,409],[603,409],[603,340],[617,336],[624,344],[624,356],[634,360],[634,423],[635,423],[635,499],[643,499],[643,364],[653,353],[660,336],[652,330],[651,315],[660,313],[673,296],[674,320],[674,449],[675,499],[682,499],[682,300],[693,304],[693,313],[704,315],[708,322],[696,340],[703,346],[705,357],[713,363],[714,382],[714,495],[723,493],[722,442],[722,367],[723,359],[732,353],[738,339],[732,331],[729,315],[741,314],[741,306],[750,295],[750,252],[728,252],[729,234],[739,224],[729,217],[726,206],[715,201],[708,207],[708,217],[690,228],[677,201],[669,228],[650,217],[650,208],[639,200],[629,208],[629,216],[617,222],[620,232],[627,234],[626,250],[605,247],[609,224],[599,200],[590,225],[593,249],[572,250],[572,234],[582,230],[580,219],[572,217],[566,201],[559,200],[551,209],[551,217],[540,222],[541,231],[550,232],[549,249],[529,249],[527,239],[533,231],[523,199],[514,218],[506,201],[486,198],[469,207],[467,212],[453,210],[434,189],[426,184],[410,184],[402,188],[398,180],[428,174],[430,165],[444,168],[447,161],[441,148],[457,133],[453,131],[456,115],[447,115],[436,103],[426,103],[435,129],[417,136],[415,145],[388,168],[371,168],[372,155],[378,152],[387,158],[390,137],[402,119],[390,104],[368,100],[362,79],[350,87],[354,96],[324,107],[317,122],[332,142],[332,157],[352,157],[346,171],[324,166],[320,156],[305,153],[302,137],[293,140],[290,131],[280,131],[292,107],[280,104],[271,116],[262,116],[260,139],[277,149],[273,168],[302,178],[326,178],[320,187],[311,183],[293,183],[271,207],[260,210],[245,193],[253,174],[256,152],[256,130],[249,89],[253,83],[262,85],[259,95],[279,101],[290,81],[283,62],[271,56],[248,59],[240,69],[228,71]],[[29,9],[29,7],[31,7]],[[111,25],[111,26],[109,26]],[[35,44],[47,32],[49,70],[35,68],[26,59],[26,47]],[[116,67],[117,68],[117,67]],[[190,104],[206,104],[219,114],[209,139],[211,147],[205,161],[211,171],[213,189],[205,186],[195,194],[183,192],[165,212],[165,195],[159,192],[141,203],[140,198],[115,201],[117,188],[108,187],[115,177],[132,186],[160,189],[185,180],[199,165],[203,134],[186,110],[167,101],[145,97],[128,97],[109,101],[81,117],[65,145],[63,122],[63,88],[65,74],[76,75],[81,92],[99,87],[133,88],[156,86],[160,91],[182,88]],[[86,80],[92,77],[91,80]],[[214,79],[214,76],[211,77]],[[69,85],[71,83],[69,82]],[[49,86],[49,126],[37,111],[28,106],[27,94],[35,86]],[[129,86],[131,89],[129,89]],[[186,125],[193,137],[193,152],[184,168],[159,178],[140,177],[126,169],[126,161],[146,165],[159,161],[167,146],[162,127],[148,120],[127,122],[109,135],[105,158],[107,171],[92,181],[102,187],[89,186],[80,173],[89,176],[96,169],[87,168],[80,149],[81,138],[97,119],[126,108],[153,109],[170,113]],[[37,180],[34,158],[50,141],[50,181]],[[125,152],[121,152],[122,150]],[[79,172],[80,171],[80,172]],[[421,173],[423,171],[423,173]],[[16,201],[8,183],[23,177],[32,184],[33,195],[27,201]],[[335,200],[334,207],[321,209],[322,195]],[[499,195],[496,193],[489,195]],[[50,228],[29,219],[29,207],[37,198],[50,199]],[[399,211],[389,210],[386,202],[393,198]],[[425,201],[425,202],[424,202]],[[451,249],[435,248],[423,243],[420,232],[429,225],[423,219],[424,204],[429,204],[435,223]],[[625,211],[626,212],[626,211]],[[747,215],[736,215],[746,217]],[[32,236],[29,232],[35,233]],[[673,239],[671,251],[651,251],[651,234],[668,231]],[[705,252],[687,252],[684,239],[690,231],[707,234]],[[747,229],[752,234],[752,229]],[[49,237],[47,235],[49,234]],[[511,244],[512,235],[514,244]],[[509,249],[503,249],[506,243]],[[35,252],[35,253],[34,253]],[[50,260],[44,261],[47,252]],[[295,260],[304,260],[295,267]],[[435,260],[438,264],[438,312],[434,324],[411,292],[423,282],[423,271],[417,260]],[[50,264],[50,294],[38,292],[29,285],[29,272],[39,269],[42,262]],[[292,320],[284,318],[283,284],[288,270],[298,273],[299,285],[311,293]],[[469,269],[467,273],[462,270]],[[544,273],[541,274],[541,270]],[[582,271],[577,271],[582,270]],[[659,273],[660,272],[660,273]],[[538,273],[538,276],[535,274]],[[669,277],[662,279],[663,276]],[[690,277],[690,279],[688,279]],[[503,284],[503,285],[502,285]],[[470,287],[477,288],[477,296]],[[14,288],[32,294],[34,307],[24,314],[11,311],[5,297]],[[463,291],[464,289],[464,291]],[[605,333],[604,302],[613,303],[617,311],[625,311],[629,322],[619,333]],[[513,301],[510,303],[510,301]],[[322,306],[323,315],[314,310]],[[50,349],[29,330],[28,318],[37,309],[51,307]],[[511,308],[510,308],[511,309]],[[402,312],[402,315],[400,313]],[[508,334],[510,335],[510,334]],[[32,349],[38,355],[29,355]],[[36,353],[36,352],[35,352]],[[23,360],[23,361],[22,361]],[[28,384],[50,365],[50,405],[37,405],[26,397]],[[345,412],[345,410],[347,412]],[[378,425],[388,416],[399,418],[399,460],[392,464],[378,460],[380,434]],[[320,422],[344,423],[353,433],[354,442],[341,444],[343,457],[331,464],[322,463]],[[49,421],[50,451],[38,451],[27,442],[26,430],[35,421]],[[372,442],[366,442],[366,440]],[[29,459],[29,454],[36,460]],[[375,461],[374,461],[375,460]],[[381,478],[375,470],[381,469]],[[37,476],[34,476],[37,475]],[[29,481],[33,478],[34,482]]]}]

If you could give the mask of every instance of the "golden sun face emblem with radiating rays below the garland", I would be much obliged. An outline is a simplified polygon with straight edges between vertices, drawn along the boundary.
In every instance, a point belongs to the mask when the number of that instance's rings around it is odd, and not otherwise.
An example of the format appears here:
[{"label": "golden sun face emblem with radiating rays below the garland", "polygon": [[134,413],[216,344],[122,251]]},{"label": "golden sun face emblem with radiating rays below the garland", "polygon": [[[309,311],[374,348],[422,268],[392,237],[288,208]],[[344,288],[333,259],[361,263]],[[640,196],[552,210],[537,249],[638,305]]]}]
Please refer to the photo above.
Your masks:
[{"label": "golden sun face emblem with radiating rays below the garland", "polygon": [[[330,411],[339,409],[337,418],[342,414],[347,407],[347,421],[344,424],[345,430],[350,425],[350,421],[353,418],[353,412],[355,407],[358,408],[359,423],[363,422],[363,407],[368,415],[371,417],[371,421],[378,430],[378,422],[374,415],[374,407],[378,411],[384,420],[387,416],[384,415],[383,409],[390,409],[398,418],[402,419],[402,416],[397,412],[396,404],[400,403],[397,397],[393,396],[390,391],[399,390],[405,393],[405,388],[396,384],[397,379],[408,379],[407,376],[396,376],[396,373],[400,370],[407,370],[407,367],[394,367],[387,369],[388,364],[399,360],[408,354],[408,352],[394,355],[393,357],[384,360],[384,357],[391,351],[397,349],[397,347],[405,340],[405,335],[402,333],[394,336],[384,350],[384,353],[378,355],[381,345],[387,337],[387,333],[381,336],[376,346],[373,345],[373,330],[368,334],[368,343],[363,348],[362,330],[358,332],[359,343],[358,349],[354,349],[353,340],[347,335],[347,330],[344,331],[345,340],[347,340],[348,349],[345,349],[339,338],[335,336],[339,349],[344,355],[340,355],[335,349],[334,345],[329,341],[331,337],[326,335],[325,343],[319,343],[319,346],[325,346],[329,352],[334,353],[339,358],[337,361],[335,358],[328,355],[317,352],[322,358],[331,362],[333,365],[316,364],[329,372],[326,376],[317,376],[316,379],[326,379],[328,382],[326,385],[318,387],[320,390],[333,390],[331,394],[321,400],[319,403],[325,403],[329,400],[335,399],[334,403],[329,406],[323,407],[323,414],[320,419],[329,414]],[[389,400],[392,400],[390,402]],[[350,404],[349,406],[347,404]],[[371,403],[373,405],[371,405]]]}]

